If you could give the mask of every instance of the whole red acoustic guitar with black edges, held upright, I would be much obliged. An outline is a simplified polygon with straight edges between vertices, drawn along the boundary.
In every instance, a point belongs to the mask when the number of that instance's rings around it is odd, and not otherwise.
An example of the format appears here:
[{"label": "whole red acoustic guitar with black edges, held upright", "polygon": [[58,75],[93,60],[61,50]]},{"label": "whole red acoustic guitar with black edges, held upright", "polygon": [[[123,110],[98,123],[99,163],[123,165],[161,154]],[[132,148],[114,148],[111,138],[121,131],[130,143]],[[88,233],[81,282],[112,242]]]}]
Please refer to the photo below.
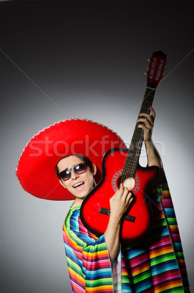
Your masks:
[{"label": "whole red acoustic guitar with black edges, held upright", "polygon": [[[150,106],[162,78],[166,60],[167,56],[162,51],[154,52],[148,60],[150,65],[149,71],[146,72],[147,86],[140,113],[150,114]],[[97,236],[104,234],[110,214],[109,199],[118,190],[120,183],[123,183],[134,196],[128,214],[123,217],[121,231],[122,243],[128,244],[142,240],[150,230],[152,213],[148,194],[159,171],[156,166],[139,165],[144,131],[137,126],[138,124],[135,126],[129,149],[112,148],[105,153],[102,161],[102,179],[87,194],[80,210],[81,221],[86,229]]]}]

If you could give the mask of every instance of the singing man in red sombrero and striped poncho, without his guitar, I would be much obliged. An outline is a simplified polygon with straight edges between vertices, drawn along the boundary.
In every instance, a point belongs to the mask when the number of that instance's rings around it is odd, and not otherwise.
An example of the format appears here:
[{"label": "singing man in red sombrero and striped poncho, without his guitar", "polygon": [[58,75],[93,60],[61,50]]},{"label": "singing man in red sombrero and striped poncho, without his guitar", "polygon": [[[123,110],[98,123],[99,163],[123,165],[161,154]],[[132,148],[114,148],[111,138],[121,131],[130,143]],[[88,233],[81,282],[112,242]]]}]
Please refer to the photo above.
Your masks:
[{"label": "singing man in red sombrero and striped poncho, without his guitar", "polygon": [[[146,118],[139,117],[137,122],[145,124],[138,127],[144,130],[148,166],[160,168],[155,182],[159,184],[162,164],[151,141],[155,118],[152,108],[151,113],[142,113]],[[163,210],[157,192],[151,193],[154,218],[151,234],[133,247],[120,246],[121,218],[133,200],[127,187],[121,185],[110,199],[111,213],[104,235],[98,238],[86,230],[80,220],[81,204],[99,182],[102,156],[109,148],[118,146],[125,145],[108,127],[91,121],[62,121],[44,128],[32,138],[19,159],[17,175],[22,187],[35,196],[75,199],[64,222],[65,251],[74,293],[189,292],[185,267],[180,274],[177,264],[180,256],[175,255],[176,246],[173,248],[171,241],[165,203]],[[56,182],[56,175],[54,178],[55,166],[60,184]],[[43,173],[47,179],[45,184]],[[183,263],[183,256],[181,261]]]}]

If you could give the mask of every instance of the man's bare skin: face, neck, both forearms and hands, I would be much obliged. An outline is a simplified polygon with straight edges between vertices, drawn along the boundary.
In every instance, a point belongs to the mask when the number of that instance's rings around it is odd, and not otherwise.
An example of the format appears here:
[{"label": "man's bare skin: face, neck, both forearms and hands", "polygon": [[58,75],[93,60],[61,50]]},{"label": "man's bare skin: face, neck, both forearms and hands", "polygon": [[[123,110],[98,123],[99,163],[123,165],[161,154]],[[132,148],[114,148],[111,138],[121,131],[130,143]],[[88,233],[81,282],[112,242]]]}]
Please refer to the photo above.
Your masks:
[{"label": "man's bare skin: face, neck, both forearms and hands", "polygon": [[[148,167],[157,166],[162,169],[161,159],[157,153],[155,147],[153,146],[151,140],[151,132],[153,127],[153,121],[155,118],[155,112],[151,107],[152,115],[146,113],[140,114],[141,116],[147,117],[147,119],[140,118],[137,120],[137,123],[144,122],[145,125],[139,125],[139,128],[144,129],[144,142],[146,144],[147,158],[148,158]],[[84,159],[84,158],[83,158]],[[86,166],[86,171],[82,174],[76,174],[72,167],[77,166],[84,161],[81,158],[74,155],[67,156],[61,159],[57,164],[57,174],[59,177],[60,184],[66,188],[70,193],[72,193],[76,199],[71,206],[74,208],[82,204],[87,193],[96,185],[94,180],[94,175],[96,174],[96,166],[92,164],[91,169]],[[70,170],[71,176],[67,180],[63,180],[60,177],[60,174],[64,170]],[[159,173],[159,178],[161,178],[161,171]],[[70,175],[70,174],[69,174]],[[158,178],[157,178],[158,182]],[[110,219],[108,222],[108,227],[105,232],[106,243],[108,246],[108,253],[110,256],[111,263],[114,260],[114,257],[118,251],[118,246],[120,244],[120,229],[121,229],[121,220],[122,216],[125,214],[129,208],[130,203],[132,202],[133,197],[132,193],[129,192],[127,187],[124,187],[123,184],[120,187],[120,190],[115,193],[115,195],[110,199]]]}]

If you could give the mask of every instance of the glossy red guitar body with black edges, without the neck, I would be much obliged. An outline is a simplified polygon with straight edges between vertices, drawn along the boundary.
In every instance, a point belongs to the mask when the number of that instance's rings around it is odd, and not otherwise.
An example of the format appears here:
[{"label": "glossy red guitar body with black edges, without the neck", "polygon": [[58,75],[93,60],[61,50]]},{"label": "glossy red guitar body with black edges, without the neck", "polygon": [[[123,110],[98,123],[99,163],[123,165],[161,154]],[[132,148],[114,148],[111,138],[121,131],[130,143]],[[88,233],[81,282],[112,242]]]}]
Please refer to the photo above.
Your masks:
[{"label": "glossy red guitar body with black edges, without the neck", "polygon": [[[128,148],[113,148],[105,153],[102,161],[102,179],[86,195],[82,203],[81,221],[87,230],[97,236],[104,234],[107,229],[108,211],[110,209],[109,199],[119,189],[119,178],[121,177],[127,154]],[[134,186],[131,190],[134,200],[128,212],[132,221],[130,217],[129,220],[123,220],[122,243],[132,244],[141,241],[148,234],[152,222],[149,189],[158,171],[158,167],[141,167],[138,164],[134,177]],[[101,210],[103,213],[99,212]]]}]

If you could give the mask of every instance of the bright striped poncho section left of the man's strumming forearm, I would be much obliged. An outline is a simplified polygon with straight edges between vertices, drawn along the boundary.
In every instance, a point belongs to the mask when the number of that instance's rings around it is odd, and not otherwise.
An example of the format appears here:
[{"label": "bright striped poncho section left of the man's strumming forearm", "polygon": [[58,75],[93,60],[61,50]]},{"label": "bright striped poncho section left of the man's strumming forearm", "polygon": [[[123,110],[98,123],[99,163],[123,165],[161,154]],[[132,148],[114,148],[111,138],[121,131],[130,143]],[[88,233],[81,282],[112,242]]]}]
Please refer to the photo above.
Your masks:
[{"label": "bright striped poncho section left of the man's strumming forearm", "polygon": [[112,293],[112,273],[105,236],[83,226],[80,206],[70,208],[64,222],[67,265],[74,293]]}]

